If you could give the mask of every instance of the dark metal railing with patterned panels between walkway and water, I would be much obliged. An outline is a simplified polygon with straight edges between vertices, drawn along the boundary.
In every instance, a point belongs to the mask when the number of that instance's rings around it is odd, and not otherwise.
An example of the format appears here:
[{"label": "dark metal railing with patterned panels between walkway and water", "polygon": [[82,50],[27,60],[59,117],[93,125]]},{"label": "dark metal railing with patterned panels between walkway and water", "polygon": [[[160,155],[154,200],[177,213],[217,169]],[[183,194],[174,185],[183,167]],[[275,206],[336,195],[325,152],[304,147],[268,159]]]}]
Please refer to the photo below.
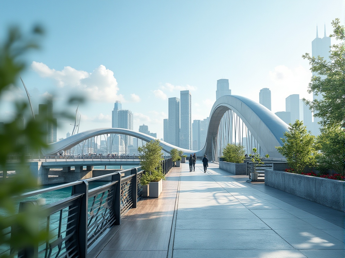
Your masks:
[{"label": "dark metal railing with patterned panels between walkway and water", "polygon": [[[162,166],[166,174],[172,167],[171,158],[163,160]],[[45,228],[49,232],[49,239],[39,246],[20,251],[18,257],[27,258],[34,254],[34,257],[42,258],[86,258],[97,239],[111,226],[119,225],[121,215],[130,208],[136,208],[142,196],[140,178],[145,171],[136,167],[120,172],[31,191],[17,197],[19,201],[22,200],[19,203],[21,212],[30,206],[39,206],[42,194],[54,195],[56,191],[71,189],[69,197],[40,206],[41,214],[45,217],[33,223],[37,228]],[[121,177],[121,174],[127,176]],[[89,183],[96,180],[105,180],[105,183],[89,189]],[[11,237],[13,230],[19,229],[9,227],[6,237]],[[0,255],[10,252],[11,247],[0,246]]]}]

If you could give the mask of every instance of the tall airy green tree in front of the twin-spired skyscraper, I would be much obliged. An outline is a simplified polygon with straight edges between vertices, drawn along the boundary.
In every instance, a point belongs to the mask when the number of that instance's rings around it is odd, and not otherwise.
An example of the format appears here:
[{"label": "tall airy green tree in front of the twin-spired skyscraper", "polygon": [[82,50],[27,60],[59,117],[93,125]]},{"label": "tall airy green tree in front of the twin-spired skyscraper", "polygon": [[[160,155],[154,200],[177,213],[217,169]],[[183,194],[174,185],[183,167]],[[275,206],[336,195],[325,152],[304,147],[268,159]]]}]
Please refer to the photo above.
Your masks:
[{"label": "tall airy green tree in front of the twin-spired skyscraper", "polygon": [[[308,53],[303,55],[303,59],[307,59],[312,66],[311,71],[317,72],[319,76],[313,76],[309,83],[308,93],[321,94],[322,100],[306,100],[314,112],[314,116],[320,117],[319,122],[322,126],[345,127],[345,27],[340,25],[339,19],[332,21],[333,34],[336,40],[342,41],[333,44],[330,51],[330,62],[324,60],[323,57],[311,57]],[[322,79],[321,76],[326,76]]]}]

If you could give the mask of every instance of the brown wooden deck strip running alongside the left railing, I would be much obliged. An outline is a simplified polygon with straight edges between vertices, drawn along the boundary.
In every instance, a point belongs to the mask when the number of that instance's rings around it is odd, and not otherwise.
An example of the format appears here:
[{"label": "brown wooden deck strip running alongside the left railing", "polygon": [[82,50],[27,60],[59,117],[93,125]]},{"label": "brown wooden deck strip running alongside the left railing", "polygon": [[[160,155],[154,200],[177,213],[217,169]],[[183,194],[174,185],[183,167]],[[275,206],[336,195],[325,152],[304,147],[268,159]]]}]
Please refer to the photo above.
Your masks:
[{"label": "brown wooden deck strip running alongside the left railing", "polygon": [[159,198],[143,198],[136,209],[121,217],[89,252],[89,258],[167,257],[174,217],[180,167],[172,168],[163,181]]}]

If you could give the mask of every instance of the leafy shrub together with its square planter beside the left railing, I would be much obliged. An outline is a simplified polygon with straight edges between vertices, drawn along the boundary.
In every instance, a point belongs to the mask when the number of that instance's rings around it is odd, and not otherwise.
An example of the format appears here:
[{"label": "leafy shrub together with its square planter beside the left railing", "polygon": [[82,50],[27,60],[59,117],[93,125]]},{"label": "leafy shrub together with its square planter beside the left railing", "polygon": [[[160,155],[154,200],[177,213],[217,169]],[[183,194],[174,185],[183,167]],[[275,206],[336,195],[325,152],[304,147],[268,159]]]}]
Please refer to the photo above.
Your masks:
[{"label": "leafy shrub together with its square planter beside the left railing", "polygon": [[[142,196],[158,197],[162,191],[162,180],[165,179],[160,165],[163,153],[159,140],[147,142],[142,147],[138,147],[138,151],[140,152],[141,169],[145,170],[144,175],[140,178]],[[152,182],[154,183],[151,184]]]}]

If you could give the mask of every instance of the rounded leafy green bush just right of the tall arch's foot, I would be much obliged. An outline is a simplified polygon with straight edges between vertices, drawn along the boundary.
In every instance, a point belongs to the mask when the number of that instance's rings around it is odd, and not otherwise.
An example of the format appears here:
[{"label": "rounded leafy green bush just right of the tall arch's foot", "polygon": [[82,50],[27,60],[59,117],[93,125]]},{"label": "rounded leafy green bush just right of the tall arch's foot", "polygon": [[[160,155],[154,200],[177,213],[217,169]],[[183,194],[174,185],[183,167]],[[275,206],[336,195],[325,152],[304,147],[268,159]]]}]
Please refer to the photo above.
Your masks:
[{"label": "rounded leafy green bush just right of the tall arch's foot", "polygon": [[284,136],[285,138],[280,138],[283,146],[276,148],[296,173],[302,173],[306,166],[315,166],[315,137],[307,132],[303,122],[296,120],[293,125],[289,124],[289,131]]}]

